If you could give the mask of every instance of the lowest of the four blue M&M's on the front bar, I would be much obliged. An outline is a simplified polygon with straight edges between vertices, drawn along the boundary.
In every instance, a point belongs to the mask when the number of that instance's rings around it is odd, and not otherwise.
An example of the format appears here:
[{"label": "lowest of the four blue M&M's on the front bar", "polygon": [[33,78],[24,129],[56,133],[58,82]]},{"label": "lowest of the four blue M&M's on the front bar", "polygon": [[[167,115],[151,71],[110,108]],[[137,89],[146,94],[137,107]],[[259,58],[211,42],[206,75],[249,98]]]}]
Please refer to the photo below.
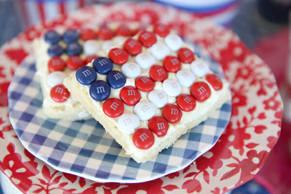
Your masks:
[{"label": "lowest of the four blue M&M's on the front bar", "polygon": [[106,81],[97,80],[90,85],[89,93],[93,99],[103,101],[110,96],[111,87]]}]

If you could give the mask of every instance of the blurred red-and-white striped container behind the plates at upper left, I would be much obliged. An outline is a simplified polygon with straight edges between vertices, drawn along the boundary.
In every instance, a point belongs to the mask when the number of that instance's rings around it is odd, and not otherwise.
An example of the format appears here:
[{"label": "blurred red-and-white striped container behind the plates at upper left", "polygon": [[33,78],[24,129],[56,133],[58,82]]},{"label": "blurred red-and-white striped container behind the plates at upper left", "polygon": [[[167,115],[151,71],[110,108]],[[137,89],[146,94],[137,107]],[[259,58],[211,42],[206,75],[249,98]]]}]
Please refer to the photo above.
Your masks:
[{"label": "blurred red-and-white striped container behind the plates at upper left", "polygon": [[45,21],[85,5],[92,4],[94,0],[14,0],[16,16],[21,30],[39,21]]}]

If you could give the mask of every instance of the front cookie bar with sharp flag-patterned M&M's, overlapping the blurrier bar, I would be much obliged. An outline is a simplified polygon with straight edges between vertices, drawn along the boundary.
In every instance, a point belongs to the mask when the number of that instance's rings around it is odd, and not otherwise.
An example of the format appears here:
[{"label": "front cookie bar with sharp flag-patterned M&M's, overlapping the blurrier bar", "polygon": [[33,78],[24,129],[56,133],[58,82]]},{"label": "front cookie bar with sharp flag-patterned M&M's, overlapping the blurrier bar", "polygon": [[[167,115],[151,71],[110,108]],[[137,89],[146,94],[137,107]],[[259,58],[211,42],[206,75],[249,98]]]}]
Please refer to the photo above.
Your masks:
[{"label": "front cookie bar with sharp flag-patterned M&M's, overlapping the blurrier bar", "polygon": [[136,162],[151,160],[231,98],[228,82],[163,24],[80,67],[64,84]]}]

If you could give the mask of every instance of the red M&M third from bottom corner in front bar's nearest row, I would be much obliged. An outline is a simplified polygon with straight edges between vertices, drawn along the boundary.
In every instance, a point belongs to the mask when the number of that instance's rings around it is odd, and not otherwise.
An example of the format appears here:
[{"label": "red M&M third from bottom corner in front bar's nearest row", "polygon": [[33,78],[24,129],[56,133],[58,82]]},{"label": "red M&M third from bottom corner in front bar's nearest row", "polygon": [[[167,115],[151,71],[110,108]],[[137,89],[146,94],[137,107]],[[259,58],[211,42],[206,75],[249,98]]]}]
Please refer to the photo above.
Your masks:
[{"label": "red M&M third from bottom corner in front bar's nearest row", "polygon": [[169,123],[177,123],[181,120],[182,112],[175,104],[166,104],[162,108],[162,115]]}]

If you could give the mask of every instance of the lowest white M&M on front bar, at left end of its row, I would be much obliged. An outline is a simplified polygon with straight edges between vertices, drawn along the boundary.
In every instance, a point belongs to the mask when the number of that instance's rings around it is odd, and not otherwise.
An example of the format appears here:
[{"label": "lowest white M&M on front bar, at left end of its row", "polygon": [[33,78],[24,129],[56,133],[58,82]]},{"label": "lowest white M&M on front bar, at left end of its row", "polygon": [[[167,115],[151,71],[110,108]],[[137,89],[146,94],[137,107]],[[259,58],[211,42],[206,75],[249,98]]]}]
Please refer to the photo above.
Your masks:
[{"label": "lowest white M&M on front bar, at left end of its row", "polygon": [[124,134],[132,134],[140,126],[139,118],[133,113],[123,113],[117,121],[117,128]]}]

